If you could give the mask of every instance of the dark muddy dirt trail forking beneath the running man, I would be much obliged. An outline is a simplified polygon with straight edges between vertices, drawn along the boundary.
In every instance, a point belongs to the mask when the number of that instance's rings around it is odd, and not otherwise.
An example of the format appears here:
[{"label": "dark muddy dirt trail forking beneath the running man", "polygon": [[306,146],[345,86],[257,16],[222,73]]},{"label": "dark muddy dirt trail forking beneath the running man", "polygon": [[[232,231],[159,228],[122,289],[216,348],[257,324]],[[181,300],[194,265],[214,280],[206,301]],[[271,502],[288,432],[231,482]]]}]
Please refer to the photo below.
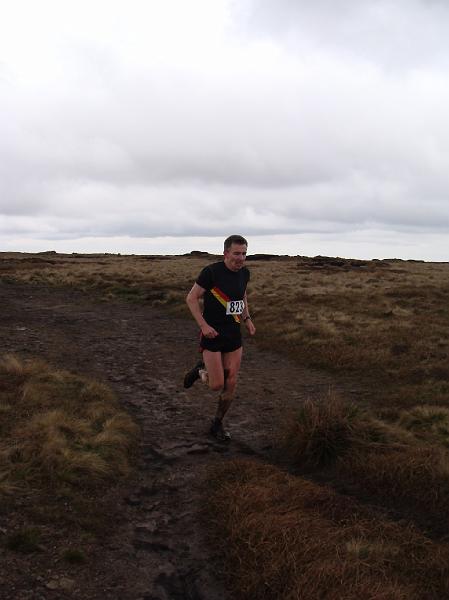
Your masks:
[{"label": "dark muddy dirt trail forking beneath the running man", "polygon": [[237,457],[269,459],[286,406],[330,386],[358,397],[359,387],[348,380],[338,384],[246,340],[229,415],[233,440],[218,444],[207,435],[216,396],[198,383],[182,387],[184,370],[197,359],[193,321],[24,285],[0,284],[0,306],[2,353],[41,356],[105,381],[143,431],[138,476],[119,499],[122,519],[101,557],[75,574],[75,589],[62,595],[39,591],[33,580],[18,583],[18,595],[0,597],[230,600],[214,574],[216,558],[206,548],[199,519],[205,469]]}]

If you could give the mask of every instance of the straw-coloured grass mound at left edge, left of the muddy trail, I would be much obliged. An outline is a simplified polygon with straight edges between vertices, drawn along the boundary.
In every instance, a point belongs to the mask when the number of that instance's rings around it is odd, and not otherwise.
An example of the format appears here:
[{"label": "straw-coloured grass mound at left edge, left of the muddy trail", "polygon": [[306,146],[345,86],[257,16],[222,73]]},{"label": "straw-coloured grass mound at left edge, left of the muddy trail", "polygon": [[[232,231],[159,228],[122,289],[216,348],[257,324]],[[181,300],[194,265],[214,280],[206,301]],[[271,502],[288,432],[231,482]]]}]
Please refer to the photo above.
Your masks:
[{"label": "straw-coloured grass mound at left edge, left of the muddy trail", "polygon": [[37,569],[45,577],[61,560],[76,568],[101,553],[98,542],[121,518],[138,435],[105,385],[42,360],[0,358],[5,581],[11,565],[13,573],[18,564],[19,572]]}]

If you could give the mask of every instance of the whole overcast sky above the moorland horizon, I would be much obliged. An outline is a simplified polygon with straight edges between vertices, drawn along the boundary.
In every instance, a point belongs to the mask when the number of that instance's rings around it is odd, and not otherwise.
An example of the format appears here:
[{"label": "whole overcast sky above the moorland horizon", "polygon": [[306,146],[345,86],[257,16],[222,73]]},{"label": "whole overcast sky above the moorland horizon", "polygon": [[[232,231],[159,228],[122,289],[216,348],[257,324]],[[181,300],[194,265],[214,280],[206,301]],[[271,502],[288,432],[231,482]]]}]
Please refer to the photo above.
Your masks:
[{"label": "whole overcast sky above the moorland horizon", "polygon": [[0,0],[0,251],[449,260],[445,0]]}]

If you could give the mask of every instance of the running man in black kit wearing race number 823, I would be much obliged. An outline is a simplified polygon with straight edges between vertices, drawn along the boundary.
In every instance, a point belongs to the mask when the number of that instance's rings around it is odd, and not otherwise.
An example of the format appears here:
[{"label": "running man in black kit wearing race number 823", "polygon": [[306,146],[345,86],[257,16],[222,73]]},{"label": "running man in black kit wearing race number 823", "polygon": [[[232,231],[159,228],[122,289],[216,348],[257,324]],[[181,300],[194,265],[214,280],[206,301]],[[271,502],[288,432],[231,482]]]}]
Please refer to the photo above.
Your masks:
[{"label": "running man in black kit wearing race number 823", "polygon": [[248,242],[241,235],[228,237],[224,242],[224,260],[205,267],[186,298],[201,329],[203,360],[185,374],[184,387],[191,387],[201,378],[211,390],[221,390],[210,427],[210,433],[220,441],[231,439],[229,432],[223,429],[223,418],[234,399],[242,360],[240,323],[245,324],[250,335],[256,333],[246,297],[250,277],[244,266],[247,248]]}]

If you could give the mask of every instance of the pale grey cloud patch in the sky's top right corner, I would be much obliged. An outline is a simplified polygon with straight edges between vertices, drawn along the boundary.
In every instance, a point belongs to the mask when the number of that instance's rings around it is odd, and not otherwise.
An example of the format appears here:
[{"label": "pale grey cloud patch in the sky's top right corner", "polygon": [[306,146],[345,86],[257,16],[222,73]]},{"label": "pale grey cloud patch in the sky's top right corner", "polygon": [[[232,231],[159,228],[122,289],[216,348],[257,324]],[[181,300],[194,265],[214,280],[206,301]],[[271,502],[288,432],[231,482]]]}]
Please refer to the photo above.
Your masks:
[{"label": "pale grey cloud patch in the sky's top right corner", "polygon": [[436,0],[249,0],[248,30],[384,68],[447,65],[449,6]]}]

